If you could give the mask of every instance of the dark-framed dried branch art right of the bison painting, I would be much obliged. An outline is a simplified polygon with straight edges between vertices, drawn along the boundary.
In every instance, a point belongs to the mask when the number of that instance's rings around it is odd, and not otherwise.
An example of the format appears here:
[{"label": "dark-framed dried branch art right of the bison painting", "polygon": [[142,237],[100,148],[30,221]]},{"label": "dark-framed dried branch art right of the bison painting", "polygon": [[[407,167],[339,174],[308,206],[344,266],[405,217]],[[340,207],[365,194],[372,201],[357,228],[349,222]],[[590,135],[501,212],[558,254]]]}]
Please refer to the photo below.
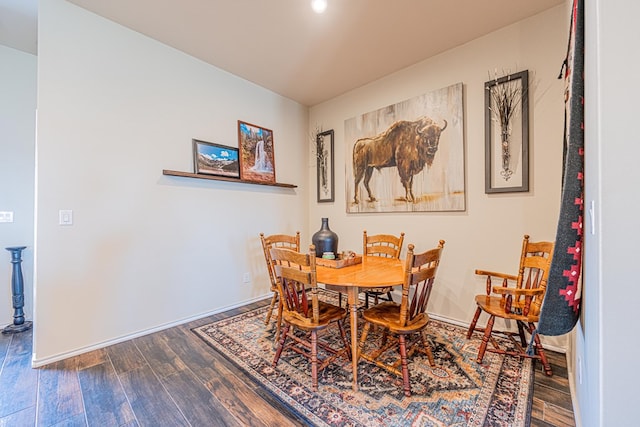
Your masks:
[{"label": "dark-framed dried branch art right of the bison painting", "polygon": [[484,85],[484,192],[529,191],[529,72]]}]

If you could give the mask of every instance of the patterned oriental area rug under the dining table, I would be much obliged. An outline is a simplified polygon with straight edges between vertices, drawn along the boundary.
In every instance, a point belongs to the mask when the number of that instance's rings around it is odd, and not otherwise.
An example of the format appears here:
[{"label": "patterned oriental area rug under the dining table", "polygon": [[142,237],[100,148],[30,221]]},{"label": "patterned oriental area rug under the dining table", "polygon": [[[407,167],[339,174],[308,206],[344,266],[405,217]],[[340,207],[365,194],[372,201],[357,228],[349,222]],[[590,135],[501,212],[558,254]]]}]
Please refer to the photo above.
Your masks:
[{"label": "patterned oriental area rug under the dining table", "polygon": [[[333,296],[325,294],[325,298]],[[529,426],[531,360],[487,353],[483,363],[477,364],[481,337],[474,333],[467,340],[465,328],[431,320],[428,336],[436,366],[431,368],[418,352],[409,360],[409,398],[402,392],[400,377],[364,360],[358,369],[358,392],[351,388],[351,362],[339,359],[320,372],[315,393],[307,359],[284,352],[273,367],[274,328],[273,322],[264,324],[267,309],[254,309],[193,332],[309,425]],[[372,334],[369,339],[375,339]],[[328,328],[323,339],[337,342],[337,328]],[[504,341],[501,344],[508,347]]]}]

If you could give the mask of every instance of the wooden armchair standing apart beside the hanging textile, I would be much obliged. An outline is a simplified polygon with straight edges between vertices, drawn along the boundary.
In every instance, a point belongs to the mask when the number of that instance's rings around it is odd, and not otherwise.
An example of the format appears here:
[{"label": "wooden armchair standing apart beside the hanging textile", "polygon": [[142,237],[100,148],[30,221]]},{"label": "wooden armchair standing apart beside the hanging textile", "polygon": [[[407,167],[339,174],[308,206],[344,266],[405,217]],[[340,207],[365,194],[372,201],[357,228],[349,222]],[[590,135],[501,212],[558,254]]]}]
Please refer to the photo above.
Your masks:
[{"label": "wooden armchair standing apart beside the hanging textile", "polygon": [[[528,357],[540,360],[545,374],[552,375],[551,365],[544,353],[540,336],[535,331],[547,288],[553,247],[553,242],[530,242],[529,236],[525,234],[517,275],[476,270],[476,274],[487,276],[486,293],[476,295],[477,308],[467,331],[467,339],[471,338],[473,331],[483,333],[478,349],[478,363],[482,363],[486,351]],[[494,279],[500,284],[494,286]],[[489,320],[484,328],[477,328],[476,324],[482,312],[489,315]],[[518,332],[495,330],[496,317],[515,320]],[[529,337],[533,337],[533,339],[529,338],[530,344],[527,344],[525,330]],[[515,350],[500,347],[498,341],[493,338],[495,335],[507,337]],[[516,335],[520,338],[519,342],[514,339]],[[489,341],[493,348],[487,348]]]}]

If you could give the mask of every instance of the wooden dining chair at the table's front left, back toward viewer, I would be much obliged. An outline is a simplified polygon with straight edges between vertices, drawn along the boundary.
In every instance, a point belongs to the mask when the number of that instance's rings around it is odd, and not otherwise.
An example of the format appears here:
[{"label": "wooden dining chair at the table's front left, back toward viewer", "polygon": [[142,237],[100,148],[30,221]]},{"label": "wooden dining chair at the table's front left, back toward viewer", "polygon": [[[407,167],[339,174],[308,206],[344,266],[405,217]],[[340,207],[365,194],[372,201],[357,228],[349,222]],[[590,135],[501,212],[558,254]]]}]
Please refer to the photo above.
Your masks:
[{"label": "wooden dining chair at the table's front left, back toward viewer", "polygon": [[[351,360],[351,349],[343,323],[347,311],[319,300],[314,245],[309,247],[309,253],[306,254],[273,247],[270,253],[283,307],[283,330],[273,366],[277,366],[285,348],[308,358],[311,361],[311,388],[318,391],[319,371],[338,357],[345,356]],[[319,332],[330,325],[337,325],[340,330],[343,344],[341,349],[335,349],[320,339]],[[296,334],[296,329],[306,331],[308,335],[300,336]],[[319,357],[319,347],[323,350],[323,359]]]}]

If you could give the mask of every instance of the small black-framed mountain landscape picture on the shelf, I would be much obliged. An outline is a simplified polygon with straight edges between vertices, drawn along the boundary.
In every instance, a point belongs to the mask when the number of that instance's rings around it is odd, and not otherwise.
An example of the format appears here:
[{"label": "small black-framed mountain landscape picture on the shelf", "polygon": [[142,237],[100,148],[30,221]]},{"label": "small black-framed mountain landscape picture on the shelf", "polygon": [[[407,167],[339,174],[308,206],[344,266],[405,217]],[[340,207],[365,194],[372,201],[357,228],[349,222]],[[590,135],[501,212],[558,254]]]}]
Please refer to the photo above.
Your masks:
[{"label": "small black-framed mountain landscape picture on the shelf", "polygon": [[238,149],[193,139],[195,173],[240,178]]}]

